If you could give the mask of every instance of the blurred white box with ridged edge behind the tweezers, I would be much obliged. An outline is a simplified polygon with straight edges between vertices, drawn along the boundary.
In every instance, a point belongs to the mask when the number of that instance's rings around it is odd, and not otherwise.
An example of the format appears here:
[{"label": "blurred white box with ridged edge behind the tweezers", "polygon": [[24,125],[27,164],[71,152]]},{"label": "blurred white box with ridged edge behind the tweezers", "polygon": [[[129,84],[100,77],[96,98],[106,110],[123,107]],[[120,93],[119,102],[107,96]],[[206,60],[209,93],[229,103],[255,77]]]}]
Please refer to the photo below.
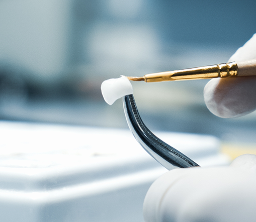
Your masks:
[{"label": "blurred white box with ridged edge behind the tweezers", "polygon": [[[0,221],[143,221],[166,169],[129,130],[0,122]],[[201,166],[223,165],[215,137],[156,135]]]}]

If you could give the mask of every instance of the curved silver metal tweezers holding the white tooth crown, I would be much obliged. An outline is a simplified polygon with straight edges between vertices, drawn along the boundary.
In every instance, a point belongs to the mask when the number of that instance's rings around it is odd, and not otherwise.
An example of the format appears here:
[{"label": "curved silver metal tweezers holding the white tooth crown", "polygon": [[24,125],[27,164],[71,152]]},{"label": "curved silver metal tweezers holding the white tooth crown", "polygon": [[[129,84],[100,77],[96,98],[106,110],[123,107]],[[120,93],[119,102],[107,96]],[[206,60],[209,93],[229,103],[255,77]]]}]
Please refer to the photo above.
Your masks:
[{"label": "curved silver metal tweezers holding the white tooth crown", "polygon": [[132,94],[123,97],[128,126],[138,143],[166,169],[199,166],[180,151],[161,141],[142,122]]}]

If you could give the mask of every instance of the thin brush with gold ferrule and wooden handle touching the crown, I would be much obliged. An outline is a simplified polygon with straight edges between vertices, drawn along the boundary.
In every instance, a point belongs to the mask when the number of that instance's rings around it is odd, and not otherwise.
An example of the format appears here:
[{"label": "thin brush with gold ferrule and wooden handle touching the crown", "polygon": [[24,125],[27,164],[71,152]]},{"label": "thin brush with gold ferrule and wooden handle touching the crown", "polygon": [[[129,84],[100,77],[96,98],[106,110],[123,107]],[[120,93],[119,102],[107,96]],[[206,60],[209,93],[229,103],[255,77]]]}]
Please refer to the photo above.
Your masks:
[{"label": "thin brush with gold ferrule and wooden handle touching the crown", "polygon": [[162,82],[252,75],[256,75],[256,60],[250,60],[245,62],[229,62],[219,65],[151,73],[146,74],[143,77],[128,76],[127,78],[132,81]]}]

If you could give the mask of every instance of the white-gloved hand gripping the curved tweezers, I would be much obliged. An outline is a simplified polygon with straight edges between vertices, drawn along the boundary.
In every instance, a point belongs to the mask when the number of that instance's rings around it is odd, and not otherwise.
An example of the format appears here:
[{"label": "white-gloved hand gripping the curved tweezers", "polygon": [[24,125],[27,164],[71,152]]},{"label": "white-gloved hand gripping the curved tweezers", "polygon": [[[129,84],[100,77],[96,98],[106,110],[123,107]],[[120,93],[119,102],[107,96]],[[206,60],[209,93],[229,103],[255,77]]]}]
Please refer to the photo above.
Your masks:
[{"label": "white-gloved hand gripping the curved tweezers", "polygon": [[256,221],[256,155],[230,166],[171,170],[149,188],[145,222]]}]

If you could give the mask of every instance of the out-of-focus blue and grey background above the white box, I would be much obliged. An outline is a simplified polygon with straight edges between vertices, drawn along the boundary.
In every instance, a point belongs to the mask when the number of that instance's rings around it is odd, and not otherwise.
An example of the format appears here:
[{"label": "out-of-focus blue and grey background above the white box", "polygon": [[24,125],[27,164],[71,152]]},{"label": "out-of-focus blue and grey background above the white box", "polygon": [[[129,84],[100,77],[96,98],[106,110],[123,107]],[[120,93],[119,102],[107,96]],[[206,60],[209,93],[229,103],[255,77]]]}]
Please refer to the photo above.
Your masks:
[{"label": "out-of-focus blue and grey background above the white box", "polygon": [[[102,81],[225,63],[256,32],[256,2],[0,0],[0,118],[127,128],[122,101]],[[134,82],[152,131],[256,143],[256,114],[220,119],[206,108],[207,80]]]}]

